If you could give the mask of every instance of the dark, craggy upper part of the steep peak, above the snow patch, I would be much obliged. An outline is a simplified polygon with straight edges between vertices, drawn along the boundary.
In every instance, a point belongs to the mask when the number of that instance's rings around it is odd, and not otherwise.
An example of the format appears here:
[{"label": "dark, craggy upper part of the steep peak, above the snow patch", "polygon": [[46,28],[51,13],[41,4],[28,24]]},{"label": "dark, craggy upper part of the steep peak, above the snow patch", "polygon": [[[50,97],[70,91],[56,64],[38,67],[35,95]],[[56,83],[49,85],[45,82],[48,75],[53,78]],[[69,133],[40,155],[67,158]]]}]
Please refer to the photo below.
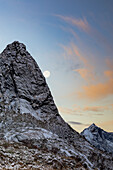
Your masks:
[{"label": "dark, craggy upper part of the steep peak, above the snow patch", "polygon": [[51,95],[41,70],[24,44],[18,41],[9,44],[2,52],[0,61],[1,91],[9,91],[29,102],[42,93]]}]

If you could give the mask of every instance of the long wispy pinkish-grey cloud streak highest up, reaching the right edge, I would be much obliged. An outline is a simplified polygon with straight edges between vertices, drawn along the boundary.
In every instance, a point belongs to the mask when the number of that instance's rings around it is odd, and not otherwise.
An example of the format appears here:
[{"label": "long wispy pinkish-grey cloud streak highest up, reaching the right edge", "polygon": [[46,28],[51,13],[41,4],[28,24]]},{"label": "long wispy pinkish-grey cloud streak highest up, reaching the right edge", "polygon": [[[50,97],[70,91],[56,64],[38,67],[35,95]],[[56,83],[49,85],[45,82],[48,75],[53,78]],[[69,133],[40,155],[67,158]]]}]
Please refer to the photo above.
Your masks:
[{"label": "long wispy pinkish-grey cloud streak highest up, reaching the right edge", "polygon": [[[100,32],[97,28],[93,27],[84,16],[82,18],[75,18],[58,14],[54,16],[62,19],[65,23],[68,23],[70,27],[74,26],[74,28],[78,28],[79,30],[82,30],[83,32],[87,33],[91,38],[93,38],[93,40],[96,41],[99,46],[104,47],[104,49],[113,54],[113,46],[109,42],[107,37],[102,34],[102,32]],[[77,38],[77,34],[73,29],[71,30],[70,28],[69,32],[71,32],[74,37]]]}]

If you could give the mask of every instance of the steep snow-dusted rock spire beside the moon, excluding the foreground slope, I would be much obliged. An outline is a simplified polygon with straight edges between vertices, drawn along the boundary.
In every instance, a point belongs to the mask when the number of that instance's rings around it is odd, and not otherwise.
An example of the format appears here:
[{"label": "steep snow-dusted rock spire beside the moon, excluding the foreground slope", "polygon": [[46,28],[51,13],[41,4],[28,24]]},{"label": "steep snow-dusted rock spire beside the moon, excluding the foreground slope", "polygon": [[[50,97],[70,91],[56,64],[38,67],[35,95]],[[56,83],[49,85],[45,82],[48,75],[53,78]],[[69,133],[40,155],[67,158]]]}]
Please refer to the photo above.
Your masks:
[{"label": "steep snow-dusted rock spire beside the moon, excluding the foreground slope", "polygon": [[[0,55],[0,83],[3,131],[42,127],[64,139],[70,136],[71,127],[59,115],[46,80],[24,44],[15,41]],[[78,136],[72,129],[71,133]]]}]

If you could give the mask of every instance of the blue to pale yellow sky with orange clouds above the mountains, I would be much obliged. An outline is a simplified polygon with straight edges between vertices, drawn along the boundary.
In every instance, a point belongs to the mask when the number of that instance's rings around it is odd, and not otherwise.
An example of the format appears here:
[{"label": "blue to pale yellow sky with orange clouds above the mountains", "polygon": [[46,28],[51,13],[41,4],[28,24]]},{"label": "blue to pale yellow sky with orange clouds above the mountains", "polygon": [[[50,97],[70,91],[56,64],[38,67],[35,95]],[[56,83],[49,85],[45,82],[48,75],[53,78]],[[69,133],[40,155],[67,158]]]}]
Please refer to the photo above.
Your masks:
[{"label": "blue to pale yellow sky with orange clouds above the mountains", "polygon": [[24,43],[61,116],[113,132],[113,1],[0,0],[0,52]]}]

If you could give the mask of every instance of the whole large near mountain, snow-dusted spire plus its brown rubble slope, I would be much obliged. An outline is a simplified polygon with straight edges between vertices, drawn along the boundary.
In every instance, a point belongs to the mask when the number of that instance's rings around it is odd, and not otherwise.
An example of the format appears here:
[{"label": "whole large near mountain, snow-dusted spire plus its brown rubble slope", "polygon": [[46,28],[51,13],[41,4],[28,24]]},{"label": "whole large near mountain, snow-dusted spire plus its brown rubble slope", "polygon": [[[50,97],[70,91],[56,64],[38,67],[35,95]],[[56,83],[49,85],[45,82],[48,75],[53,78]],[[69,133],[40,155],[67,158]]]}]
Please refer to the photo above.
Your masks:
[{"label": "whole large near mountain, snow-dusted spire plus its brown rubble slope", "polygon": [[113,167],[110,155],[94,149],[62,119],[37,63],[17,41],[0,54],[0,168],[9,167]]}]

